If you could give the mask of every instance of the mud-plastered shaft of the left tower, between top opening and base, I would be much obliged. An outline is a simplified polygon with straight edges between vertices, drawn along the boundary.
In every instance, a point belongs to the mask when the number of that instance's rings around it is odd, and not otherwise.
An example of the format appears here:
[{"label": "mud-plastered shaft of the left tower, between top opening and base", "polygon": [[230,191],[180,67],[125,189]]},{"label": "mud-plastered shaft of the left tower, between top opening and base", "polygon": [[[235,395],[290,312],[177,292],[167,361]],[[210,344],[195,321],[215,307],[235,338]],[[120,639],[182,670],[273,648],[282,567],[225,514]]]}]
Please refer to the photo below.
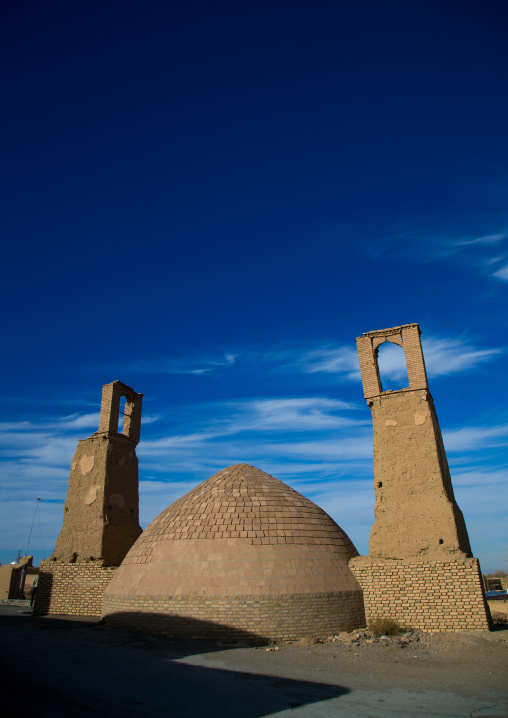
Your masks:
[{"label": "mud-plastered shaft of the left tower, between top opening and base", "polygon": [[141,534],[135,443],[120,434],[80,441],[72,459],[56,561],[118,566]]}]

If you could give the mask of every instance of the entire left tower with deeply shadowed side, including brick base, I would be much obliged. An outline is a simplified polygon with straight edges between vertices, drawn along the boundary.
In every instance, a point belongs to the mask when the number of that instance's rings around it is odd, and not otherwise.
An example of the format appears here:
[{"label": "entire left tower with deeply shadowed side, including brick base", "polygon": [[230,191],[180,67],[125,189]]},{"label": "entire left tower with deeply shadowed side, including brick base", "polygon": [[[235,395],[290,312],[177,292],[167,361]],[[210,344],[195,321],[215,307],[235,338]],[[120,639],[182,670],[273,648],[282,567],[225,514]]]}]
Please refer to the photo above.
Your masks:
[{"label": "entire left tower with deeply shadowed side, including brick base", "polygon": [[141,534],[138,459],[143,394],[105,384],[99,428],[78,443],[63,525],[41,562],[36,613],[100,614],[102,593]]}]

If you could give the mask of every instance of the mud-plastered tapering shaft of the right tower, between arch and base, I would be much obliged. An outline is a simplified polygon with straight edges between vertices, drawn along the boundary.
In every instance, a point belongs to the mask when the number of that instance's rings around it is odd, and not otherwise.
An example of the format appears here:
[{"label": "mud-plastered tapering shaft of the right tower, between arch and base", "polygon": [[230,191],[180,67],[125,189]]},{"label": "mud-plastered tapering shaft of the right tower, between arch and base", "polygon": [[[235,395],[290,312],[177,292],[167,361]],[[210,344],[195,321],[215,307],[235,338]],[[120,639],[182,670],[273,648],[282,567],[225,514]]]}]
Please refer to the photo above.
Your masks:
[{"label": "mud-plastered tapering shaft of the right tower, between arch and base", "polygon": [[369,399],[374,427],[373,558],[471,556],[441,431],[426,390]]}]

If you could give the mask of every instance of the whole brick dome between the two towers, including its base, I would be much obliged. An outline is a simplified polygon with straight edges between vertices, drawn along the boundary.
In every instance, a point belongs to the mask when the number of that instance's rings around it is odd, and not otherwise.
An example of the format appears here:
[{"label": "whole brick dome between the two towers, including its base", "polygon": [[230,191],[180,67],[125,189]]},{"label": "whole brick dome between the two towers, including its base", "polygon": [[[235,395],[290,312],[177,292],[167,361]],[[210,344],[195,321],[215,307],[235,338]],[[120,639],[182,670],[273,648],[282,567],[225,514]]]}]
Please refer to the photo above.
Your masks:
[{"label": "whole brick dome between the two towers, including its base", "polygon": [[194,638],[299,638],[365,625],[358,552],[322,509],[247,464],[219,471],[138,538],[103,599],[113,623]]}]

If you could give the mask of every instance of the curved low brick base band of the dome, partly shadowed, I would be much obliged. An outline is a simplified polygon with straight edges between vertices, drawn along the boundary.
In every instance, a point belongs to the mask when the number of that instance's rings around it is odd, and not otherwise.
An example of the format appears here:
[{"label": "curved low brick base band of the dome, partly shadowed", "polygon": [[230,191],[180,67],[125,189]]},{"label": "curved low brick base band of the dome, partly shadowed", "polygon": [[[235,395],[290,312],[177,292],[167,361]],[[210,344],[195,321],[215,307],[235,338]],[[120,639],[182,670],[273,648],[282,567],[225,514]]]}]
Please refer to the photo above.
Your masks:
[{"label": "curved low brick base band of the dome, partly shadowed", "polygon": [[103,616],[121,628],[172,638],[297,640],[365,626],[361,591],[281,596],[104,596]]}]

